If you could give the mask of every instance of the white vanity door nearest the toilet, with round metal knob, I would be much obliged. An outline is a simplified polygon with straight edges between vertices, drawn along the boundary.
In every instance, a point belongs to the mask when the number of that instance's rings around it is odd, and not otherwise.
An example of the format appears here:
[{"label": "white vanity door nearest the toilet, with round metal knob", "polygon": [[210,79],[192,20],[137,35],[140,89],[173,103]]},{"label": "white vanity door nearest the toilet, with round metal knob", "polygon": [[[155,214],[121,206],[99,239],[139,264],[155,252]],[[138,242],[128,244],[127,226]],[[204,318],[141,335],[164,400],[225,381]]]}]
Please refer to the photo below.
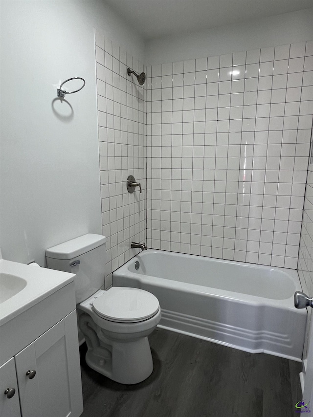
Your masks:
[{"label": "white vanity door nearest the toilet, with round metal knob", "polygon": [[23,417],[81,415],[76,311],[17,354],[15,362]]}]

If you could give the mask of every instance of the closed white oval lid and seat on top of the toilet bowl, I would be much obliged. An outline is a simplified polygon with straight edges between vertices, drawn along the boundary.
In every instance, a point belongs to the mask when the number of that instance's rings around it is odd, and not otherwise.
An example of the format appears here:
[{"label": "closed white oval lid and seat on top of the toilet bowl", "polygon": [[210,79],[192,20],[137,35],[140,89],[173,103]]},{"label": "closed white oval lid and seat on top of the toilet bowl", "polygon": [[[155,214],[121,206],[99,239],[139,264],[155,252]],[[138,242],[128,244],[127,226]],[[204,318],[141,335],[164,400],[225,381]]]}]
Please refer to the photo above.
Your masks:
[{"label": "closed white oval lid and seat on top of the toilet bowl", "polygon": [[119,323],[135,323],[154,316],[158,299],[139,288],[112,287],[92,301],[94,311],[107,320]]}]

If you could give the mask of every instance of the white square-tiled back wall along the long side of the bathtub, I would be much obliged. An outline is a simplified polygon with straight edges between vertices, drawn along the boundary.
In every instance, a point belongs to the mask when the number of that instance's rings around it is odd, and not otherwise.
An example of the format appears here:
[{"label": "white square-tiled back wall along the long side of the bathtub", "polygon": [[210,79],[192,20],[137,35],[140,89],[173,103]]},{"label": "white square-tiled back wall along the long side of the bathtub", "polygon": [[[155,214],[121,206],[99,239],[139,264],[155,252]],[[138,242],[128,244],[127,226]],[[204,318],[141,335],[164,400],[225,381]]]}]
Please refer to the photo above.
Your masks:
[{"label": "white square-tiled back wall along the long side of the bathtub", "polygon": [[296,268],[313,42],[147,75],[148,246]]}]

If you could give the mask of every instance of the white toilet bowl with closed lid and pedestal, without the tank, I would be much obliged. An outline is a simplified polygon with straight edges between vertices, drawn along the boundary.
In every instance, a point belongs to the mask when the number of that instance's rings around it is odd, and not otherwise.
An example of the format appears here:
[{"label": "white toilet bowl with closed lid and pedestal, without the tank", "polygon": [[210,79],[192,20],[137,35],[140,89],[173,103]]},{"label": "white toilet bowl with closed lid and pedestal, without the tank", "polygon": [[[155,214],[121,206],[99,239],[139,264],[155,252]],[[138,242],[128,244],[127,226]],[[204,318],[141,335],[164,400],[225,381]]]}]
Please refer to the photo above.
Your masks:
[{"label": "white toilet bowl with closed lid and pedestal, without the tank", "polygon": [[[129,294],[128,301],[138,296],[141,301],[145,298],[147,302],[152,301],[144,307],[144,318],[143,308],[139,306],[128,305],[133,309],[123,309]],[[119,302],[106,304],[119,295]],[[148,335],[161,319],[157,298],[153,300],[151,296],[154,297],[137,288],[112,287],[108,291],[97,291],[77,305],[79,327],[88,346],[86,363],[90,368],[122,384],[136,384],[148,378],[153,371]]]}]

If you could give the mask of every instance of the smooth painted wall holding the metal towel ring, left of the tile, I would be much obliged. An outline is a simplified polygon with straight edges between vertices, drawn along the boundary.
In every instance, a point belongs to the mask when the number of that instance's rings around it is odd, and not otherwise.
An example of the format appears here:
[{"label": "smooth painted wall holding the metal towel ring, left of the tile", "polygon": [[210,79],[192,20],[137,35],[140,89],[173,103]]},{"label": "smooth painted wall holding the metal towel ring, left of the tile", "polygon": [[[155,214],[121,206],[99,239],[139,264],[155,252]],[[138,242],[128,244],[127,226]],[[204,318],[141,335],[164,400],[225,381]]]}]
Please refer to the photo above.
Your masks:
[{"label": "smooth painted wall holding the metal towel ring, left of the tile", "polygon": [[[101,1],[1,1],[0,246],[44,265],[45,248],[101,233],[93,27],[138,58],[141,42]],[[67,101],[56,86],[81,76]]]}]

